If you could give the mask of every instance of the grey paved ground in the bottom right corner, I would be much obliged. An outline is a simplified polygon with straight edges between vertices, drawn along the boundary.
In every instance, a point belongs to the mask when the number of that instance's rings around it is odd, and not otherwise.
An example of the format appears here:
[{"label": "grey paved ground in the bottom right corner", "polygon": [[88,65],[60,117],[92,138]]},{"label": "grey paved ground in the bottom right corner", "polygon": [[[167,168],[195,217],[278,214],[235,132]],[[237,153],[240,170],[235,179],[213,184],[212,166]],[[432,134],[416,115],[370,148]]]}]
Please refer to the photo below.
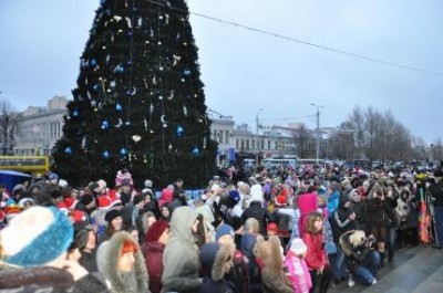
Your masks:
[{"label": "grey paved ground in the bottom right corner", "polygon": [[393,263],[379,271],[372,286],[342,282],[328,293],[443,293],[443,250],[416,245],[395,252]]}]

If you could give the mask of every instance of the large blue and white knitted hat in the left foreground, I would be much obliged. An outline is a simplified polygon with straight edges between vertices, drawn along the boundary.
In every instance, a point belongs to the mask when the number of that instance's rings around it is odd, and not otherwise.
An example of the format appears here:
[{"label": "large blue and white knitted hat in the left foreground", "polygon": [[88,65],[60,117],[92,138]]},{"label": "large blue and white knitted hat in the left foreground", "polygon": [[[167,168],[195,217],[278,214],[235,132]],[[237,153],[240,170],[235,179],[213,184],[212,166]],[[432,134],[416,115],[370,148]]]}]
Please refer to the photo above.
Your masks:
[{"label": "large blue and white knitted hat in the left foreground", "polygon": [[73,227],[54,207],[32,207],[17,216],[0,232],[4,262],[21,266],[44,265],[70,247]]}]

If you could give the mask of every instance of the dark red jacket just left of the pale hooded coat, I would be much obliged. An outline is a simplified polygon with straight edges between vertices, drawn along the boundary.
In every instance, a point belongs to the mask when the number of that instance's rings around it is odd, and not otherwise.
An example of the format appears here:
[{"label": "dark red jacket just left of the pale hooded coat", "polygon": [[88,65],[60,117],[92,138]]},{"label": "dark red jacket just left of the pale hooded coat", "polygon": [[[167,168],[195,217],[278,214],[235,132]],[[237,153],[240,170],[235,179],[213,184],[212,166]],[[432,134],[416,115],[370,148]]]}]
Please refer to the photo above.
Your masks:
[{"label": "dark red jacket just left of the pale hooded coat", "polygon": [[146,260],[146,268],[150,274],[150,290],[152,293],[162,291],[163,252],[165,244],[157,241],[146,242],[143,247],[143,254]]}]

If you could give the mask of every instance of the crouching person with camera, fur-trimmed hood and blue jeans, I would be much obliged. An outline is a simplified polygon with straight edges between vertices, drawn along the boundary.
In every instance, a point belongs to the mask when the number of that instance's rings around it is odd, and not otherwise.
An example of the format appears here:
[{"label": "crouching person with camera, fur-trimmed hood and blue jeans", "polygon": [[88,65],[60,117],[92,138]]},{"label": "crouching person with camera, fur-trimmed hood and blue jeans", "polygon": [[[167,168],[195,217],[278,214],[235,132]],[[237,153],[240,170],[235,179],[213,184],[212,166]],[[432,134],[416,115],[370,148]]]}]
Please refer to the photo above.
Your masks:
[{"label": "crouching person with camera, fur-trimmed hood and blue jeans", "polygon": [[[377,241],[373,236],[367,237],[362,230],[352,230],[342,234],[339,241],[351,278],[364,285],[374,285],[380,254],[375,250]],[[352,279],[350,286],[353,285]]]}]

